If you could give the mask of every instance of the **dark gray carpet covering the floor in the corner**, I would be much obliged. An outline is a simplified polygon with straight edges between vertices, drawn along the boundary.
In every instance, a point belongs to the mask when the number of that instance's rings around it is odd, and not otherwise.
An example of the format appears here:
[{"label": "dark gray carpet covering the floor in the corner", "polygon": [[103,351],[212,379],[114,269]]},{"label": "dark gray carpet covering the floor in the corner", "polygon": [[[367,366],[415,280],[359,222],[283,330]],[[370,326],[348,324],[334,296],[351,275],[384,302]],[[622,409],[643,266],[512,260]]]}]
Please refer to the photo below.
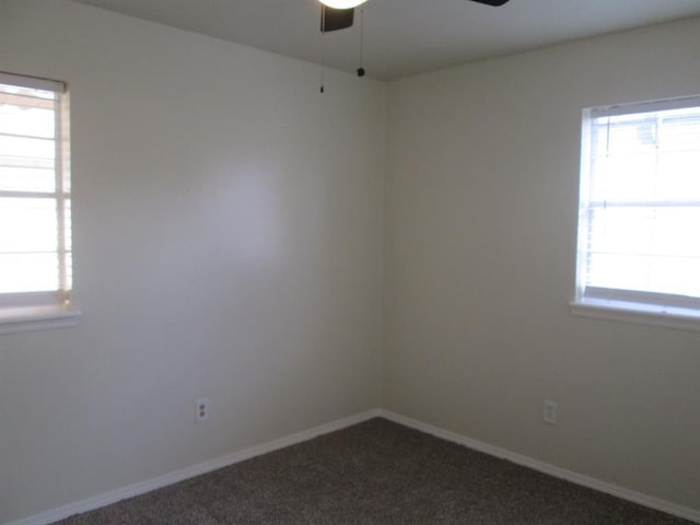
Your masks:
[{"label": "dark gray carpet covering the floor in the corner", "polygon": [[60,525],[681,525],[666,514],[374,419]]}]

